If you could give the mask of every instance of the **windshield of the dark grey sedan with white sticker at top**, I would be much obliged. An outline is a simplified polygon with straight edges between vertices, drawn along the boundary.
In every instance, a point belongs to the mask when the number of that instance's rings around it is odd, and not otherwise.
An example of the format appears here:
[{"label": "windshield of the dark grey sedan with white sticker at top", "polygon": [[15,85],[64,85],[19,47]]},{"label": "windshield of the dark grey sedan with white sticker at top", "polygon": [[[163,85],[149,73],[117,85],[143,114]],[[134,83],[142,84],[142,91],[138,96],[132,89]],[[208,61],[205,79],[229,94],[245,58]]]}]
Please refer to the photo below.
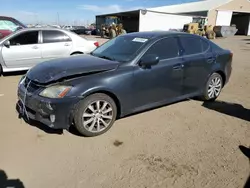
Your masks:
[{"label": "windshield of the dark grey sedan with white sticker at top", "polygon": [[91,54],[109,60],[129,62],[135,58],[148,40],[148,38],[123,35],[104,43]]}]

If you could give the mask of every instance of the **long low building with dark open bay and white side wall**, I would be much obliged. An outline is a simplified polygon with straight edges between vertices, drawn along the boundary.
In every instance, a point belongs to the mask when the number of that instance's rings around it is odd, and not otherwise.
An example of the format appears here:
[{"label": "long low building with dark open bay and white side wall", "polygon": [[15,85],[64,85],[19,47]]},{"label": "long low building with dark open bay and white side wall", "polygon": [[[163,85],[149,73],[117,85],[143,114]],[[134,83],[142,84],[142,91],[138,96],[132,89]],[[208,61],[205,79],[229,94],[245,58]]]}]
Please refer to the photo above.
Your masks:
[{"label": "long low building with dark open bay and white side wall", "polygon": [[[174,22],[173,22],[174,20]],[[103,23],[122,23],[126,31],[168,31],[171,29],[182,30],[184,24],[190,23],[193,16],[170,14],[150,10],[135,10],[130,12],[120,12],[114,14],[96,16],[96,27],[101,28]]]}]

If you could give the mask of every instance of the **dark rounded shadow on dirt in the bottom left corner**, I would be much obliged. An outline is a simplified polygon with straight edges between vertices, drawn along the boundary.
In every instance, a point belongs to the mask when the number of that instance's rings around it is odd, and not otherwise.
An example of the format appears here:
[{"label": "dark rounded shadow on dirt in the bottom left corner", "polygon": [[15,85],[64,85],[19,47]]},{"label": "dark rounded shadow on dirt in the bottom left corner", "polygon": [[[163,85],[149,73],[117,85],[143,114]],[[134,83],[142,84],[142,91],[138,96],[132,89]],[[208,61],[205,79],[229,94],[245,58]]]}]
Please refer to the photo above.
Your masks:
[{"label": "dark rounded shadow on dirt in the bottom left corner", "polygon": [[0,188],[25,188],[20,179],[8,179],[5,171],[0,169]]}]

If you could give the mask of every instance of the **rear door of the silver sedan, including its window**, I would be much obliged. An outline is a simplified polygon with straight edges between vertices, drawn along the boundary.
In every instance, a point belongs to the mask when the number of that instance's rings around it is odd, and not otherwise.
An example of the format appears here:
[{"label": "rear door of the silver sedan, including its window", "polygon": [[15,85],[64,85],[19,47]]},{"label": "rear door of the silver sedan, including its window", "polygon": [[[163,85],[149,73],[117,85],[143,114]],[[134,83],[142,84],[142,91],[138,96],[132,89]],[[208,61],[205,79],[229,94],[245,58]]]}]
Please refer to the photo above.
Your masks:
[{"label": "rear door of the silver sedan, including its window", "polygon": [[62,31],[42,31],[42,58],[50,60],[68,57],[72,49],[72,40]]}]

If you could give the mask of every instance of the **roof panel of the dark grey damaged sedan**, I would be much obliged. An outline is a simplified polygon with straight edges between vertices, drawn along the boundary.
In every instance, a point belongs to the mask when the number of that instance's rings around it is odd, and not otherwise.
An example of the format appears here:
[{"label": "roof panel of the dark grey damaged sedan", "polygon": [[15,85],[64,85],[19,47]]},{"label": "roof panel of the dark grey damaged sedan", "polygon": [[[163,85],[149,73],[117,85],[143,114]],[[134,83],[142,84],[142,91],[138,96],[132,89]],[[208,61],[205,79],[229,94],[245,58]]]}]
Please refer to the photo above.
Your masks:
[{"label": "roof panel of the dark grey damaged sedan", "polygon": [[127,35],[132,37],[152,39],[152,38],[161,38],[166,36],[180,36],[180,35],[190,35],[190,34],[177,31],[143,31],[143,32],[128,33]]}]

